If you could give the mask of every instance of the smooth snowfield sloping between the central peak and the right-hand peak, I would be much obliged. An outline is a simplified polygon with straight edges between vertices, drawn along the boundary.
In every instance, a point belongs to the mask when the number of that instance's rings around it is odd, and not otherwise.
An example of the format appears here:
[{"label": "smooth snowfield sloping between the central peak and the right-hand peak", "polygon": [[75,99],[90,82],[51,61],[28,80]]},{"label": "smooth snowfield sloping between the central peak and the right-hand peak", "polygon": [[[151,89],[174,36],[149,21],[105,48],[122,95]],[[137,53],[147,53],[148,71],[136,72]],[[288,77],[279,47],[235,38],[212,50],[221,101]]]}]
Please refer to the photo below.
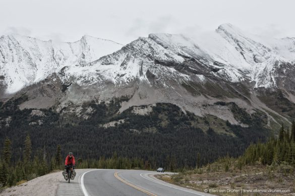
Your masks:
[{"label": "smooth snowfield sloping between the central peak and the right-hand peak", "polygon": [[184,35],[150,34],[149,38],[175,54],[198,59],[208,67],[218,69],[219,71],[213,71],[211,74],[231,82],[244,80],[245,73],[241,70],[247,73],[251,67],[240,53],[217,33],[194,38]]}]

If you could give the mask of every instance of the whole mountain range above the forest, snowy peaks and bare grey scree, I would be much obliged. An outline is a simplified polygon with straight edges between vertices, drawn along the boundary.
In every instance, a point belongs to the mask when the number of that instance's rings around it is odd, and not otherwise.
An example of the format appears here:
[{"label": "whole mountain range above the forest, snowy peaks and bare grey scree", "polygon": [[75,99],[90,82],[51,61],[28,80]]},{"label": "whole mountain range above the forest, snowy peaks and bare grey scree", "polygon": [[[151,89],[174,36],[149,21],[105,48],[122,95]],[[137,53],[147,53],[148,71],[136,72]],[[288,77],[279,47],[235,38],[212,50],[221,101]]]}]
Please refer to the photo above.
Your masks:
[{"label": "whole mountain range above the forest, snowy peaks and bare grey scree", "polygon": [[265,113],[269,124],[280,124],[295,115],[282,112],[268,97],[278,96],[286,107],[295,103],[294,40],[264,39],[230,24],[199,37],[150,34],[126,46],[91,37],[54,45],[3,36],[0,79],[6,93],[27,85],[19,91],[28,97],[21,108],[54,107],[83,116],[83,103],[125,97],[121,111],[171,103],[247,126],[228,105],[215,104],[234,102],[249,114]]}]

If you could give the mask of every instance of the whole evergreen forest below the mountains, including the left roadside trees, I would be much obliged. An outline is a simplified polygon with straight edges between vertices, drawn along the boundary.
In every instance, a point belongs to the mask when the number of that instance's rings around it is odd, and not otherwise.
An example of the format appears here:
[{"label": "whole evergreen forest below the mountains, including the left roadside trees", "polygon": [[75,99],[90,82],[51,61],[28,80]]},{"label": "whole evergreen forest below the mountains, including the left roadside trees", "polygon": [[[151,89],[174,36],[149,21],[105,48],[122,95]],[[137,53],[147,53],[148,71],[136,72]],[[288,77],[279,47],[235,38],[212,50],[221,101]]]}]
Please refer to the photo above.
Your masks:
[{"label": "whole evergreen forest below the mountains, including the left roadside trees", "polygon": [[[73,119],[65,124],[52,110],[42,110],[45,117],[38,117],[30,115],[32,109],[19,110],[14,104],[6,103],[0,117],[12,120],[9,126],[0,127],[0,143],[4,143],[0,183],[9,186],[63,169],[65,155],[70,151],[77,160],[76,168],[164,167],[174,171],[201,167],[227,154],[238,157],[251,142],[264,142],[269,133],[261,115],[247,117],[251,127],[226,123],[227,131],[237,136],[232,137],[215,132],[209,121],[205,121],[209,126],[207,131],[191,126],[201,123],[201,119],[191,113],[184,114],[174,105],[157,104],[149,116],[136,115],[132,108],[115,115],[118,106],[115,102],[108,106],[93,104],[91,107],[96,112],[89,119],[81,122]],[[125,123],[109,128],[99,126],[120,119],[125,119]],[[38,120],[42,124],[30,125]]]}]

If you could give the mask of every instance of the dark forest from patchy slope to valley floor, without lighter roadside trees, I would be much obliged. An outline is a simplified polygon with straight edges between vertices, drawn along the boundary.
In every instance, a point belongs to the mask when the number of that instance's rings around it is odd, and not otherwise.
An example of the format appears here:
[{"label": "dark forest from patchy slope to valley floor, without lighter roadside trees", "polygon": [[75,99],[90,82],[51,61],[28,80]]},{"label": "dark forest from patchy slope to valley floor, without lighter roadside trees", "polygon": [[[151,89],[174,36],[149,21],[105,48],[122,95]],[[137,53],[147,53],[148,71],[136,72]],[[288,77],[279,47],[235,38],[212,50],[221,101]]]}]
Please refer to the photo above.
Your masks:
[{"label": "dark forest from patchy slope to valley floor, without lighter roadside trees", "polygon": [[[9,126],[0,124],[0,143],[6,137],[11,139],[12,163],[23,158],[23,140],[27,135],[31,136],[32,153],[43,151],[47,159],[53,156],[56,145],[61,144],[62,154],[72,151],[75,157],[84,160],[98,160],[101,156],[110,158],[113,152],[117,152],[121,157],[148,160],[154,167],[193,168],[197,164],[197,153],[200,153],[199,165],[226,154],[238,157],[251,142],[264,142],[270,133],[264,126],[266,117],[261,114],[242,115],[247,122],[251,121],[249,127],[231,125],[229,122],[220,125],[224,126],[222,129],[226,129],[226,132],[237,136],[232,137],[219,134],[218,130],[212,128],[222,120],[216,118],[217,122],[209,122],[206,117],[200,118],[189,112],[185,114],[171,104],[157,104],[145,116],[134,114],[132,107],[119,113],[120,103],[115,101],[108,105],[90,104],[95,112],[87,120],[78,121],[74,117],[64,119],[51,109],[40,110],[44,113],[42,117],[32,116],[32,109],[19,110],[17,104],[21,101],[14,102],[8,101],[0,107],[0,118],[11,118]],[[125,119],[125,123],[108,128],[100,126],[120,119]],[[42,124],[30,124],[39,120]],[[246,123],[246,120],[241,122]],[[208,130],[198,127],[199,124],[203,127],[203,122],[209,127]],[[167,160],[171,164],[167,164]]]}]

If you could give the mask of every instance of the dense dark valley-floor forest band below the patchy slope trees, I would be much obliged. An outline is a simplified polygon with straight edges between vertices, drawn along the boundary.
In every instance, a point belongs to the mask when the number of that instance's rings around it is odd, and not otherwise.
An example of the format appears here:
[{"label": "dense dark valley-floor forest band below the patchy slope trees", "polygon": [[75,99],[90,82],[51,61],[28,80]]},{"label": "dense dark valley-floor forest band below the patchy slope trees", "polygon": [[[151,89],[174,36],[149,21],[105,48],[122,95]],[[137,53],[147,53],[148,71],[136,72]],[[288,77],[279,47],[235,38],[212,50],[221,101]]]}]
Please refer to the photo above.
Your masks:
[{"label": "dense dark valley-floor forest band below the patchy slope trees", "polygon": [[[232,157],[238,157],[252,141],[256,142],[259,138],[263,141],[263,137],[258,135],[262,135],[262,132],[253,137],[249,134],[250,129],[249,131],[239,130],[236,127],[233,129],[237,130],[237,134],[245,136],[231,137],[209,130],[204,133],[190,126],[185,129],[159,130],[157,133],[133,133],[124,127],[101,129],[81,125],[7,127],[0,133],[0,138],[9,137],[12,141],[12,163],[16,163],[20,158],[23,159],[24,141],[22,140],[24,139],[22,138],[29,134],[32,140],[32,154],[43,152],[47,159],[54,156],[57,144],[61,144],[63,155],[71,151],[75,157],[83,160],[98,160],[102,156],[107,159],[117,152],[121,157],[139,157],[148,160],[153,168],[194,168],[197,163],[197,153],[200,153],[198,162],[203,165],[227,153]],[[67,135],[71,136],[71,140]],[[3,142],[2,140],[1,143]],[[171,162],[169,166],[167,160]]]}]

